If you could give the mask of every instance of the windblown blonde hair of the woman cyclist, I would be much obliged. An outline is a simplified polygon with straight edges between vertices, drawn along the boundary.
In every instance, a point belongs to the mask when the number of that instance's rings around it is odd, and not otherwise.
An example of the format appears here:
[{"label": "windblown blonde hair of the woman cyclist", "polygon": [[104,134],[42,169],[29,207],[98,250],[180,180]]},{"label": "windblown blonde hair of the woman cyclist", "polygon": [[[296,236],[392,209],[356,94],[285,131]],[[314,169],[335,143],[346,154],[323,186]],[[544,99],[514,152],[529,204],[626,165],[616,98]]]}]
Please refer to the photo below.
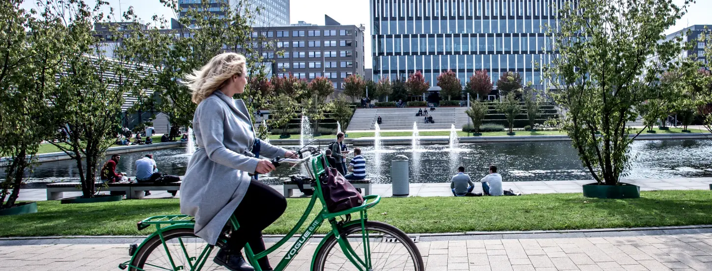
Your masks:
[{"label": "windblown blonde hair of the woman cyclist", "polygon": [[215,55],[203,68],[185,75],[188,88],[192,91],[192,101],[199,104],[215,90],[222,87],[233,75],[245,73],[245,57],[239,53]]}]

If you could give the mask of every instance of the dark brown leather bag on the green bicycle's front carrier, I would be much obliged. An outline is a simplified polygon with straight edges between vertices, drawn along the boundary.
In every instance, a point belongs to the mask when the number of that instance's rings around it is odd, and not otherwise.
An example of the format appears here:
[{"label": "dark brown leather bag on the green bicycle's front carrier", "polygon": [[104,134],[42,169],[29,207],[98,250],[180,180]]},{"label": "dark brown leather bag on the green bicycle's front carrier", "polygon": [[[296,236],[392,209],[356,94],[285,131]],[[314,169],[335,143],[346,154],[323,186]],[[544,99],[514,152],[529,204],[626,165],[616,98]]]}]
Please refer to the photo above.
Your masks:
[{"label": "dark brown leather bag on the green bicycle's front carrier", "polygon": [[321,176],[321,190],[324,193],[326,208],[331,213],[355,208],[363,204],[361,193],[339,171],[328,168]]}]

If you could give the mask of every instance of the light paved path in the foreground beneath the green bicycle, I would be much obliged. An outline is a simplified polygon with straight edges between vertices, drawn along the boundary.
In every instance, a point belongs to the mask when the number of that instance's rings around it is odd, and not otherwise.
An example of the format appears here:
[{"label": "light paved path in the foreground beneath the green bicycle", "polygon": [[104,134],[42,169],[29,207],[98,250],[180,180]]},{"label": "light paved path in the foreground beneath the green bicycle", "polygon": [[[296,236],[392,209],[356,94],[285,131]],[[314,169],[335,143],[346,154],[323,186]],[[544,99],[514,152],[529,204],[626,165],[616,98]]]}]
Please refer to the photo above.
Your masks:
[{"label": "light paved path in the foreground beneath the green bicycle", "polygon": [[[417,246],[426,270],[433,271],[712,270],[712,230],[696,232],[677,235],[641,232],[629,236],[601,233],[598,237],[582,238],[420,237]],[[128,244],[137,242],[140,239],[0,240],[0,271],[117,270],[120,262],[130,258]],[[271,255],[273,265],[290,245]],[[316,240],[307,243],[287,270],[309,270],[310,257],[317,245]],[[382,244],[372,243],[374,247],[379,245]],[[222,269],[210,265],[204,270]]]}]

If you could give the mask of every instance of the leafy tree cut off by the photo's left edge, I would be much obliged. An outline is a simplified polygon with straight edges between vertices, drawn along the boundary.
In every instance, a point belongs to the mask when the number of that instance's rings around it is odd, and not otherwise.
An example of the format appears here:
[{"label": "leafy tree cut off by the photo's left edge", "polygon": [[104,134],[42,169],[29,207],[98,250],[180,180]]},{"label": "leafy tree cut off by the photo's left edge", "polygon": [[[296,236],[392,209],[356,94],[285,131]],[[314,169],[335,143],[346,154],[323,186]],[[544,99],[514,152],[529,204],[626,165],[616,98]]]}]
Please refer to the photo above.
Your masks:
[{"label": "leafy tree cut off by the photo's left edge", "polygon": [[51,14],[32,16],[22,1],[0,3],[0,157],[5,179],[0,182],[0,210],[16,206],[20,186],[36,163],[47,124],[44,97],[55,87],[62,68],[58,54],[61,29]]}]

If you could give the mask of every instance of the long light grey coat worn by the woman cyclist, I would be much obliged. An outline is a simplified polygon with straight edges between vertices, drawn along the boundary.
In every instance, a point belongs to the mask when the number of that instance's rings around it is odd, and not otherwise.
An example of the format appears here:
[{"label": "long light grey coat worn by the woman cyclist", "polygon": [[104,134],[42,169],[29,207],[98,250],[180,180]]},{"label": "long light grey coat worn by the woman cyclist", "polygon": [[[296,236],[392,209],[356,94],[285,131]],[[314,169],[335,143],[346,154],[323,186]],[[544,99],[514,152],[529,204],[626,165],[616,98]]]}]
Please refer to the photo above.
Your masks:
[{"label": "long light grey coat worn by the woman cyclist", "polygon": [[[243,100],[219,90],[200,102],[193,117],[198,147],[180,187],[181,213],[195,217],[195,235],[215,245],[221,230],[245,196],[258,158],[250,151],[252,122]],[[286,149],[261,142],[260,154],[284,156]]]}]

